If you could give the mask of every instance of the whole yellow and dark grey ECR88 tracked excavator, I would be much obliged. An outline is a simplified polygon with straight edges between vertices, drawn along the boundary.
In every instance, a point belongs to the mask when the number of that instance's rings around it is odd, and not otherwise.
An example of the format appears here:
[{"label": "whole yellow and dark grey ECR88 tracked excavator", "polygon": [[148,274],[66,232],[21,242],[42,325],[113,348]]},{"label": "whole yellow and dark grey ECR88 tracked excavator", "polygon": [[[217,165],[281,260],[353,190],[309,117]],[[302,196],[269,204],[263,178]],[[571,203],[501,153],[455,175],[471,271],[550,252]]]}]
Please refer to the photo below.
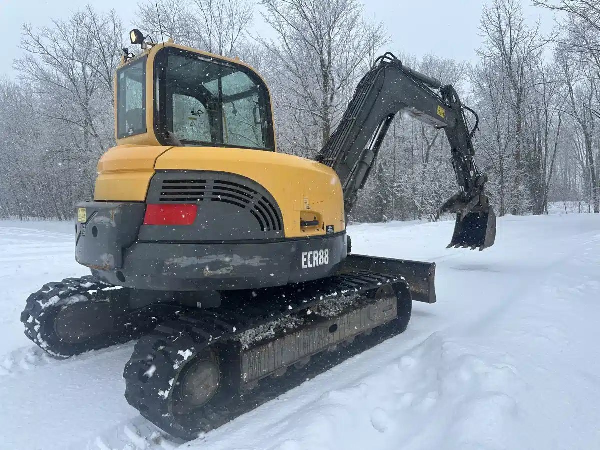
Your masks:
[{"label": "whole yellow and dark grey ECR88 tracked excavator", "polygon": [[117,145],[76,205],[92,275],[29,296],[25,334],[68,358],[134,338],[125,397],[191,439],[403,332],[434,303],[434,263],[351,253],[347,215],[392,119],[445,131],[459,192],[451,247],[494,244],[452,86],[377,59],[316,160],[277,152],[265,80],[238,59],[131,32],[115,80]]}]

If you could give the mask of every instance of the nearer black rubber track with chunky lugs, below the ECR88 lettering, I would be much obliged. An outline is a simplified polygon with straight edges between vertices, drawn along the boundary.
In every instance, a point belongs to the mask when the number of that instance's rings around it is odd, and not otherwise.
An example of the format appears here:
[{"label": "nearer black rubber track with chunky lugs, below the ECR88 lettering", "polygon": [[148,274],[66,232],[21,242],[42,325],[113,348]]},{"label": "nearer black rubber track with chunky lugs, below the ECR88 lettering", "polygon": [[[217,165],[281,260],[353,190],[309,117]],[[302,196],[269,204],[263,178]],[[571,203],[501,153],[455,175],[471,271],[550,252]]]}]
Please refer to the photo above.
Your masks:
[{"label": "nearer black rubber track with chunky lugs, below the ECR88 lettering", "polygon": [[[194,439],[197,431],[218,428],[289,390],[290,386],[293,387],[294,384],[289,375],[286,374],[281,379],[269,377],[261,380],[257,388],[245,392],[243,395],[239,395],[239,390],[221,387],[220,391],[229,391],[228,394],[220,395],[217,392],[215,398],[199,411],[184,417],[176,417],[170,410],[172,384],[173,379],[178,376],[179,371],[184,367],[185,361],[206,352],[206,349],[215,344],[218,344],[221,349],[225,347],[232,355],[239,355],[241,346],[235,338],[249,329],[293,313],[299,313],[313,307],[323,299],[335,298],[350,293],[364,293],[388,283],[403,283],[406,286],[401,277],[357,271],[353,274],[331,277],[326,282],[307,283],[302,289],[298,289],[299,285],[292,285],[267,290],[271,295],[271,301],[259,302],[260,308],[258,309],[262,311],[256,315],[251,314],[250,311],[244,308],[242,310],[245,314],[242,316],[239,308],[227,310],[223,307],[214,311],[198,310],[194,313],[184,313],[178,320],[161,323],[154,332],[138,341],[124,370],[125,397],[131,406],[140,411],[142,416],[167,431],[167,433],[182,439]],[[277,292],[276,295],[274,295],[274,291]],[[396,321],[392,321],[392,323],[394,322]],[[379,328],[385,327],[386,325],[383,325]],[[402,331],[404,329],[395,332],[395,334]],[[387,337],[392,334],[388,333]],[[361,345],[359,344],[358,347],[361,347]],[[344,351],[339,355],[346,359],[352,356],[350,353]],[[313,357],[314,359],[315,357]],[[313,360],[306,368],[298,370],[301,375],[297,377],[297,384],[304,382],[307,376],[316,376],[316,374],[329,368],[323,368],[327,365],[325,364],[317,368],[314,373],[309,373],[307,370],[310,367],[315,367]],[[328,355],[326,360],[335,361],[336,358],[330,358]],[[227,362],[221,364],[221,368],[224,367],[228,367]],[[227,375],[226,373],[225,376]],[[235,373],[229,373],[229,376],[235,377]],[[237,380],[230,379],[227,383],[222,378],[221,386],[232,386],[236,382]]]}]

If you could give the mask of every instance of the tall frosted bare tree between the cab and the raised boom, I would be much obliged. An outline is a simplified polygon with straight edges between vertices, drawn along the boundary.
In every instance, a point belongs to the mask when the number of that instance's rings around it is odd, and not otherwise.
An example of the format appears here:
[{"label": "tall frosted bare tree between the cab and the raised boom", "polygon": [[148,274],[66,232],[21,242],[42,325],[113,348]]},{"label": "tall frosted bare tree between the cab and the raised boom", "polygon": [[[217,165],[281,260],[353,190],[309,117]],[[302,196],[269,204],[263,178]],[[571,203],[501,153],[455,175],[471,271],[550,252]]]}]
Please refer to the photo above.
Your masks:
[{"label": "tall frosted bare tree between the cab and the raised boom", "polygon": [[311,155],[331,136],[359,67],[389,37],[381,23],[364,20],[356,0],[263,0],[276,40],[258,38],[275,65],[284,93],[281,109],[300,124],[302,139],[287,142]]}]

